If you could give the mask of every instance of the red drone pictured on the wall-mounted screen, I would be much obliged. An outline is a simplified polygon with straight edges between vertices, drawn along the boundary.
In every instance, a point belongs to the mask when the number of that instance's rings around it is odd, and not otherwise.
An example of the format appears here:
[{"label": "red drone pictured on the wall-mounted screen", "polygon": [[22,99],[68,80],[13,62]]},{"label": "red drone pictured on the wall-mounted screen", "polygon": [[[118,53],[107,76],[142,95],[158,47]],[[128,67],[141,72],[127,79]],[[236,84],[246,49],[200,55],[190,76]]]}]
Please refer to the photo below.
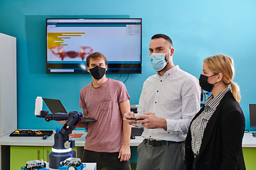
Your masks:
[{"label": "red drone pictured on the wall-mounted screen", "polygon": [[[60,57],[61,60],[64,60],[65,57],[70,57],[70,58],[81,57],[82,60],[84,60],[85,56],[92,55],[93,53],[92,47],[80,46],[80,48],[81,48],[80,52],[75,52],[75,51],[64,52],[63,46],[53,46],[53,47],[50,47],[50,51],[53,52],[53,55],[55,55],[56,57]],[[54,49],[56,49],[58,52],[55,52]]]}]

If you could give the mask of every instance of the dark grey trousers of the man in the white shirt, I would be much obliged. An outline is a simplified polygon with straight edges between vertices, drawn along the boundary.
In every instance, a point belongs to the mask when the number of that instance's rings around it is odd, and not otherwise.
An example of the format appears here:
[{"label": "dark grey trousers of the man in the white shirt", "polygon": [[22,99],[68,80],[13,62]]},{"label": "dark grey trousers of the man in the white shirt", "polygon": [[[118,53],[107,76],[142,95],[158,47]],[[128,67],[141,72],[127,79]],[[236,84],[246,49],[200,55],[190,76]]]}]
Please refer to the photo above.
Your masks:
[{"label": "dark grey trousers of the man in the white shirt", "polygon": [[152,147],[144,141],[138,147],[137,170],[183,170],[183,151],[183,142]]}]

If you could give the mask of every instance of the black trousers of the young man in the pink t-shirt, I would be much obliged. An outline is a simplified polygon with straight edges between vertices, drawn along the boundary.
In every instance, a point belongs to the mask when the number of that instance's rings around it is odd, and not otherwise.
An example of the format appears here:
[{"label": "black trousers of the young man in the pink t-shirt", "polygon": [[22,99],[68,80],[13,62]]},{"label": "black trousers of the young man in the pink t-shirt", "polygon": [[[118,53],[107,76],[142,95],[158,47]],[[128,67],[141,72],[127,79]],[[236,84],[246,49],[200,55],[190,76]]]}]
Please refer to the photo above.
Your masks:
[{"label": "black trousers of the young man in the pink t-shirt", "polygon": [[120,162],[119,152],[94,152],[84,149],[82,162],[96,162],[97,170],[106,168],[107,170],[131,170],[129,161]]}]

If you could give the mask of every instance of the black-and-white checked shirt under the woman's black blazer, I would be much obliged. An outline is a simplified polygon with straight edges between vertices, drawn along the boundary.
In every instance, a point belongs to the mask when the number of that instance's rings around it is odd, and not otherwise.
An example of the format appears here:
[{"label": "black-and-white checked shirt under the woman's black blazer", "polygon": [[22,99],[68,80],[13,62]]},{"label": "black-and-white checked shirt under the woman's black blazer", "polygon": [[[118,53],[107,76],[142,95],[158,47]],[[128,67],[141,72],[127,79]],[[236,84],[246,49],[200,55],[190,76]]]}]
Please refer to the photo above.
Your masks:
[{"label": "black-and-white checked shirt under the woman's black blazer", "polygon": [[203,132],[206,129],[206,125],[215,112],[220,100],[228,91],[230,91],[230,89],[227,87],[215,98],[213,98],[213,94],[211,94],[206,100],[204,111],[191,123],[191,147],[194,154],[199,154],[203,140]]}]

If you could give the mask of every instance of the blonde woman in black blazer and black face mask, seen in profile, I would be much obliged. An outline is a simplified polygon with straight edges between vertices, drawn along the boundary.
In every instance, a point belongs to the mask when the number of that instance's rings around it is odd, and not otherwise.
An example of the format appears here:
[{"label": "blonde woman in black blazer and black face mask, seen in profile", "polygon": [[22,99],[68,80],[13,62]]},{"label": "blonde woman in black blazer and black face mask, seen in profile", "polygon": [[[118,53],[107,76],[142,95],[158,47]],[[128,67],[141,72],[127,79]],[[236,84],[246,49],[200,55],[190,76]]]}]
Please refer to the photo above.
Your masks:
[{"label": "blonde woman in black blazer and black face mask, seen in profile", "polygon": [[186,170],[245,169],[242,137],[245,117],[239,106],[238,84],[233,82],[233,59],[222,54],[203,60],[199,79],[212,94],[191,121],[185,140]]}]

